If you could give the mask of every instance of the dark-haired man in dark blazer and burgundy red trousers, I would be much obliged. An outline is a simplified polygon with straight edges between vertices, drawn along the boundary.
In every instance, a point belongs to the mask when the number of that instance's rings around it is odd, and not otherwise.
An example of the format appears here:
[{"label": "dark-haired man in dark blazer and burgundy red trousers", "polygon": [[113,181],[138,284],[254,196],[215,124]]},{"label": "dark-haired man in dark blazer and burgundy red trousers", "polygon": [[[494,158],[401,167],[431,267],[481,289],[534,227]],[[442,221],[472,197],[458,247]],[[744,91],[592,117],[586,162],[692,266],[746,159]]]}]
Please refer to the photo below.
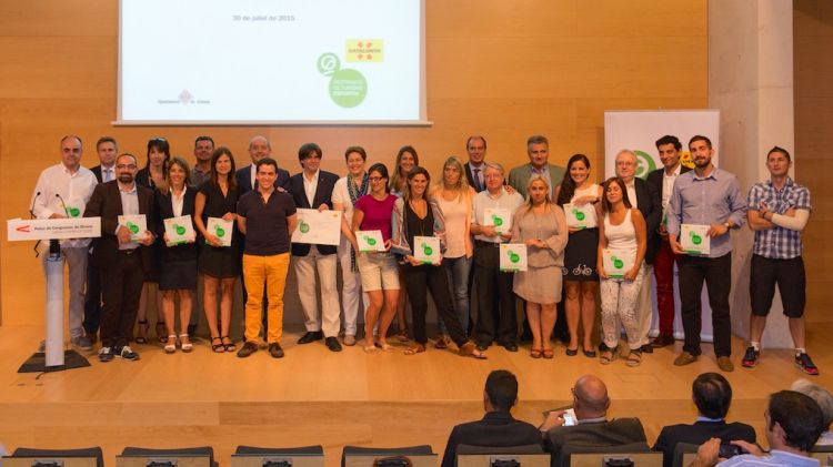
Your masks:
[{"label": "dark-haired man in dark blazer and burgundy red trousers", "polygon": [[[676,136],[665,135],[656,140],[656,151],[663,167],[648,174],[648,183],[659,193],[662,205],[662,221],[649,244],[654,252],[654,276],[656,277],[656,312],[660,316],[660,335],[653,342],[654,347],[665,347],[674,343],[674,262],[676,255],[669,244],[669,232],[665,230],[668,212],[674,182],[681,174],[690,171],[680,163],[682,143]],[[649,281],[650,282],[650,281]]]}]

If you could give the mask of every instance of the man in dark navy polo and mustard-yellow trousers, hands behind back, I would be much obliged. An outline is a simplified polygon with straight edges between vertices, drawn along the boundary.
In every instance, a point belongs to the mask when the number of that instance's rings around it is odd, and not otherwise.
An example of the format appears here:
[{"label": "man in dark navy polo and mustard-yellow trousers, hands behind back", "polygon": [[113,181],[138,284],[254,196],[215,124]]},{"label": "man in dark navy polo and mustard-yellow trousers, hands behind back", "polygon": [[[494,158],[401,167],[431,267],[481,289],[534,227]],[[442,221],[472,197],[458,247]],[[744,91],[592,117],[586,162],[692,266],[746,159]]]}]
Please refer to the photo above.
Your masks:
[{"label": "man in dark navy polo and mustard-yellow trousers, hands behind back", "polygon": [[298,222],[292,196],[275,190],[278,163],[264,158],[257,163],[257,189],[238,201],[238,226],[245,235],[243,277],[249,300],[245,302],[245,344],[238,357],[258,351],[262,322],[263,286],[269,297],[267,343],[273,358],[283,357],[283,288],[289,270],[290,237]]}]

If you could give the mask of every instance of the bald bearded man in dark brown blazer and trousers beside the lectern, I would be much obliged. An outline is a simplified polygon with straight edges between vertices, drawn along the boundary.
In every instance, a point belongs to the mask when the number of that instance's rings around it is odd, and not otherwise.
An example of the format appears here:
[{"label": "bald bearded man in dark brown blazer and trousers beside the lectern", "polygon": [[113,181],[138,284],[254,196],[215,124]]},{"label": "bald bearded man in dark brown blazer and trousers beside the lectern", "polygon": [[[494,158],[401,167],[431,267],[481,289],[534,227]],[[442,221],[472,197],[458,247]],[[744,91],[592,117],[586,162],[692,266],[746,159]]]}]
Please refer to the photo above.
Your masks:
[{"label": "bald bearded man in dark brown blazer and trousers beside the lectern", "polygon": [[[92,261],[101,272],[101,352],[99,359],[113,357],[136,361],[139,354],[128,345],[139,309],[144,272],[151,267],[153,244],[153,191],[136,183],[139,171],[132,154],[116,160],[117,179],[101,183],[92,192],[86,217],[101,217],[101,236],[92,241]],[[144,235],[131,240],[131,230],[119,223],[120,215],[143,214]],[[141,233],[138,233],[141,235]]]}]

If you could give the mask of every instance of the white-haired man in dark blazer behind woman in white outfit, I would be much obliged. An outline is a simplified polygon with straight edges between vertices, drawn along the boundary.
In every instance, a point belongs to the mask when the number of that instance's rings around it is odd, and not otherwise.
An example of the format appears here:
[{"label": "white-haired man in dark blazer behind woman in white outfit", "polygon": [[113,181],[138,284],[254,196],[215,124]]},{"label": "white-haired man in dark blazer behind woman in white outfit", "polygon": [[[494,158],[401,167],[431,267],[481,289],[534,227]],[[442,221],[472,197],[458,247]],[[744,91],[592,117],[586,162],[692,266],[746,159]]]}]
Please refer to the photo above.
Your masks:
[{"label": "white-haired man in dark blazer behind woman in white outfit", "polygon": [[[645,277],[650,277],[653,271],[654,256],[656,255],[655,243],[653,241],[656,236],[656,227],[660,226],[662,221],[662,205],[660,205],[660,195],[644,180],[636,176],[636,154],[630,150],[620,151],[616,154],[616,176],[621,177],[625,182],[628,189],[628,199],[633,207],[636,207],[645,219],[645,233],[648,236],[648,250],[645,251],[645,264],[643,266],[643,274]],[[639,305],[636,306],[636,313],[640,319],[640,336],[642,352],[652,353],[653,347],[651,346],[648,333],[651,331],[651,318],[653,317],[653,308],[651,307],[651,280],[646,278],[642,281],[642,291],[640,291]]]}]

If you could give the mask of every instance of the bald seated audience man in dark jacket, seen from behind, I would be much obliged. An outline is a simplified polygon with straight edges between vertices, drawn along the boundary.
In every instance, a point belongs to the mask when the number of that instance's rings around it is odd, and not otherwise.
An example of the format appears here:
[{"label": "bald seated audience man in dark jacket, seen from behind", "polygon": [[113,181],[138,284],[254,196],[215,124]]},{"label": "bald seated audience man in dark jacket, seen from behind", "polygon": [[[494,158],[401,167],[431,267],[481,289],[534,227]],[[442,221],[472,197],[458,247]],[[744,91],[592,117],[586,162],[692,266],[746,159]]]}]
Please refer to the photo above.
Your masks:
[{"label": "bald seated audience man in dark jacket, seen from behind", "polygon": [[608,419],[610,398],[600,378],[584,375],[575,382],[573,410],[578,425],[564,426],[564,412],[551,412],[539,427],[544,436],[544,448],[552,454],[553,465],[566,446],[606,447],[645,443],[645,430],[639,418]]}]

